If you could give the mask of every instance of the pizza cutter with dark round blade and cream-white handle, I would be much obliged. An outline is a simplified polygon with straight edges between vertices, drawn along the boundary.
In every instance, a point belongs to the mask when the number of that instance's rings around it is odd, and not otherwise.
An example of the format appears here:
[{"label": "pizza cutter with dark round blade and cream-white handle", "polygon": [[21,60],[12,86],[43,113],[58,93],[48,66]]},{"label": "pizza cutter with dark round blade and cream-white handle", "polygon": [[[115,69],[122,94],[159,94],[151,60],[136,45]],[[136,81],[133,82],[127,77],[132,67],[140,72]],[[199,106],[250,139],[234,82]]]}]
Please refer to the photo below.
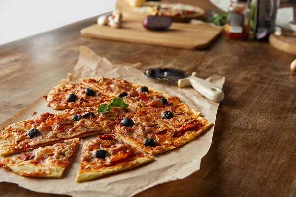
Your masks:
[{"label": "pizza cutter with dark round blade and cream-white handle", "polygon": [[152,79],[177,82],[180,88],[192,86],[197,92],[206,98],[221,102],[224,99],[224,92],[211,82],[196,77],[196,72],[185,72],[174,68],[150,68],[144,74]]}]

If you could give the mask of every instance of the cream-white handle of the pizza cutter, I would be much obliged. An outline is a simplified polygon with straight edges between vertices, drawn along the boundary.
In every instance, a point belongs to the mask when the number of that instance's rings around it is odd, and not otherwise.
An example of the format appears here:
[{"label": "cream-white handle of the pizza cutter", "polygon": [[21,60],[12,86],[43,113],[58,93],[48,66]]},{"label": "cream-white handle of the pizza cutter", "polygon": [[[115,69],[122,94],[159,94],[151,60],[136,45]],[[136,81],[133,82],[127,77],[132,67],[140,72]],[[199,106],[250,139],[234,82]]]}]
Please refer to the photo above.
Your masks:
[{"label": "cream-white handle of the pizza cutter", "polygon": [[178,86],[180,88],[193,86],[197,92],[214,102],[221,102],[224,99],[224,92],[220,88],[211,82],[194,76],[195,74],[196,72],[193,72],[192,76],[185,79],[179,79]]}]

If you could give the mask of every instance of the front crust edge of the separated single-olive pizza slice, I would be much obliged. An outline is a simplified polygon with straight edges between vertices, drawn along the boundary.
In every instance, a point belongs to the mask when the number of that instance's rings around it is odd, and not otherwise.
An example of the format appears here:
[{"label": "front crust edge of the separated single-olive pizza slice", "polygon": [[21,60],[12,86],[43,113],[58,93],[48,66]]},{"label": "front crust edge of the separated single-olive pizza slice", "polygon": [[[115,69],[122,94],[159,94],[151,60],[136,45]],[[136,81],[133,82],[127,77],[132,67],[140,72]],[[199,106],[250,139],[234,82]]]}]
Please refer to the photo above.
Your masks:
[{"label": "front crust edge of the separated single-olive pizza slice", "polygon": [[82,172],[79,171],[76,175],[76,182],[80,183],[80,182],[90,181],[95,178],[99,178],[101,176],[104,176],[106,174],[111,174],[111,173],[116,173],[119,171],[128,170],[128,169],[137,167],[141,164],[145,164],[145,163],[153,161],[153,160],[154,160],[153,156],[139,157],[133,161],[120,163],[120,164],[117,164],[117,165],[111,166],[111,167],[105,167],[105,168],[102,168],[98,171],[82,171]]}]

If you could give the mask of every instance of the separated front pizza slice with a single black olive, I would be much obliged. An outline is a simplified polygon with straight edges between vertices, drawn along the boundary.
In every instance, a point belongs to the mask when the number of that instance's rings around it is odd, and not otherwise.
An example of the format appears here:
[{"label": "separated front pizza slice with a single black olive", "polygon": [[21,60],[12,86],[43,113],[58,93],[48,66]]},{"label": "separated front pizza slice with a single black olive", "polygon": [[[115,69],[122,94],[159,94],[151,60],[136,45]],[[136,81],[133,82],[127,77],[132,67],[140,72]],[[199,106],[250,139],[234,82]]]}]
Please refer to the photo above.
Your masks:
[{"label": "separated front pizza slice with a single black olive", "polygon": [[98,135],[84,143],[76,182],[89,181],[153,161],[154,157],[124,143],[115,135]]}]

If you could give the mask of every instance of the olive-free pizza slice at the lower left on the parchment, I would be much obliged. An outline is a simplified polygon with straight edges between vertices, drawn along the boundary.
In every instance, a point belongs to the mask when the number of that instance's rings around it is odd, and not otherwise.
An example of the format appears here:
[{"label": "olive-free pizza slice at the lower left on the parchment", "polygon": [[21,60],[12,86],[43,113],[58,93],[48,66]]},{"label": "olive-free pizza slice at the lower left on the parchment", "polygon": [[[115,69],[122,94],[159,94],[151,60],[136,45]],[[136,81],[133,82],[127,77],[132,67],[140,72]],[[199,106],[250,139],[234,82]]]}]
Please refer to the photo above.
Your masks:
[{"label": "olive-free pizza slice at the lower left on the parchment", "polygon": [[0,166],[21,176],[61,178],[78,146],[79,139],[66,140],[16,157],[4,157]]}]

